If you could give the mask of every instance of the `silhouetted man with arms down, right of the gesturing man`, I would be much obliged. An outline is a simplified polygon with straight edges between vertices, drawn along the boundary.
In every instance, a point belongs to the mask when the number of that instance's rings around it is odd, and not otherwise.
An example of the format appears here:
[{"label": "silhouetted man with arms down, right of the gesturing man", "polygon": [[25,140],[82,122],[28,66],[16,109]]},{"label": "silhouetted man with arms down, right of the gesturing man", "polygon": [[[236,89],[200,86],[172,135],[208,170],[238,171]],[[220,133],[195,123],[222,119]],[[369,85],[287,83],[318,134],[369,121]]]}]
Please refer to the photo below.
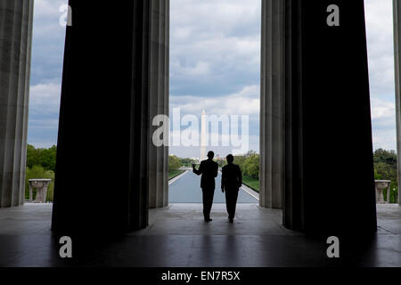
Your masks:
[{"label": "silhouetted man with arms down, right of the gesturing man", "polygon": [[233,164],[233,155],[227,155],[227,165],[223,167],[221,175],[221,191],[225,192],[225,205],[227,207],[228,219],[233,223],[235,208],[237,205],[238,191],[242,185],[241,168]]}]

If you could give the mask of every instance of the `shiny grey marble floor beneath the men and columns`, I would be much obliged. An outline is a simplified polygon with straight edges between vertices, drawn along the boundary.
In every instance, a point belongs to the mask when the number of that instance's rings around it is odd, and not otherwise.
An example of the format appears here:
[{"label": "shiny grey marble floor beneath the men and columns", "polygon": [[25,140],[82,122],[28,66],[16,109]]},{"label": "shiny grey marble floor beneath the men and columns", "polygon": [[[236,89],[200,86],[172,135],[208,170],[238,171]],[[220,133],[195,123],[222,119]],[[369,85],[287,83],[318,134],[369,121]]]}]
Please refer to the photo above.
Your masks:
[{"label": "shiny grey marble floor beneath the men and columns", "polygon": [[401,266],[401,208],[378,205],[378,233],[364,247],[340,247],[326,256],[322,240],[282,227],[282,211],[240,204],[233,224],[225,205],[204,223],[201,204],[171,204],[150,211],[148,228],[119,240],[59,257],[50,231],[52,205],[0,209],[0,266]]}]

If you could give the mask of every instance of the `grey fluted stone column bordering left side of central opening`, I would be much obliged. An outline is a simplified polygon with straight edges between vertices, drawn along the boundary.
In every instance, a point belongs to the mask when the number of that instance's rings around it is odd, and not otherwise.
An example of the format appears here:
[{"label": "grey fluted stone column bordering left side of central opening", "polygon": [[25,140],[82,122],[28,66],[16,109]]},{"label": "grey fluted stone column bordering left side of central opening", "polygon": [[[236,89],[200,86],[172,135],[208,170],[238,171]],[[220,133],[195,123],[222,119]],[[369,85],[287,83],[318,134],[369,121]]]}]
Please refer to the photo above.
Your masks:
[{"label": "grey fluted stone column bordering left side of central opening", "polygon": [[[168,116],[169,0],[151,1],[150,115]],[[151,134],[159,126],[151,126]],[[164,134],[168,135],[168,134]],[[149,144],[149,207],[168,206],[168,147]]]}]

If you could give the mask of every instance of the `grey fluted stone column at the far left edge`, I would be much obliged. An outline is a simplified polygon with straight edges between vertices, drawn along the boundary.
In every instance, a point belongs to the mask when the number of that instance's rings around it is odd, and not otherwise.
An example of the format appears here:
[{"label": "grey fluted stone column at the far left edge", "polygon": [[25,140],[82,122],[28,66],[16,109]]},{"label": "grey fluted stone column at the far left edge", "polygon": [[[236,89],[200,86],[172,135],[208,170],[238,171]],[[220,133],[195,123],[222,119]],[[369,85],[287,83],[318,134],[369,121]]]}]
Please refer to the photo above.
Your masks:
[{"label": "grey fluted stone column at the far left edge", "polygon": [[0,208],[25,197],[33,4],[0,2]]}]

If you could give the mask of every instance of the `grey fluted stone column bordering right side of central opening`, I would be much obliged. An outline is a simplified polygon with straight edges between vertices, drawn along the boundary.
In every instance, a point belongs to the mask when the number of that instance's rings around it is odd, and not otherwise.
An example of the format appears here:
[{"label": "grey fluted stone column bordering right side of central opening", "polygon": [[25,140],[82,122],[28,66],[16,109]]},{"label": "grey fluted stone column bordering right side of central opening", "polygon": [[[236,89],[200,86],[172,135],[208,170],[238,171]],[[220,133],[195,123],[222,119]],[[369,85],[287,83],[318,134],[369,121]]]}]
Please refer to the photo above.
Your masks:
[{"label": "grey fluted stone column bordering right side of central opening", "polygon": [[285,2],[262,1],[260,83],[261,207],[282,208],[285,98]]}]

